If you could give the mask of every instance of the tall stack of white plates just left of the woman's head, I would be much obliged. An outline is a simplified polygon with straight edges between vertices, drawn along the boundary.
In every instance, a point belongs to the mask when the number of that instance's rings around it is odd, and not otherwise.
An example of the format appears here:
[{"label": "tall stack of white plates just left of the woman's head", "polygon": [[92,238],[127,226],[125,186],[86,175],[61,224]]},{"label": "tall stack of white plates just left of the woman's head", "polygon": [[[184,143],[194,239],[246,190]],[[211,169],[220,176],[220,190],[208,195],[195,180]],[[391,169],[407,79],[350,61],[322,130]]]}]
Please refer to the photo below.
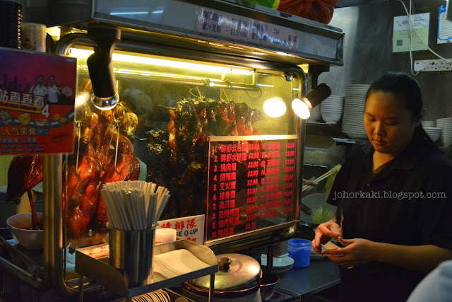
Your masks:
[{"label": "tall stack of white plates just left of the woman's head", "polygon": [[342,132],[352,139],[367,139],[363,117],[369,87],[366,84],[350,84],[345,88]]}]

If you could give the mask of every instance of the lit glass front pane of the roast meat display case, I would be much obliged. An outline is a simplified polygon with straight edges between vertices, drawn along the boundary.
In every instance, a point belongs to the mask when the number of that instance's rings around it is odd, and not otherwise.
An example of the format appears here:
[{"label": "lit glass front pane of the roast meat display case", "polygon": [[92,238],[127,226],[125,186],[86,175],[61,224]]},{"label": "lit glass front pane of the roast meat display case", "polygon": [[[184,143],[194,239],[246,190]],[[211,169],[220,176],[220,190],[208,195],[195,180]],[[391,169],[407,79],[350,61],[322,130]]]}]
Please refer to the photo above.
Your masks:
[{"label": "lit glass front pane of the roast meat display case", "polygon": [[[289,112],[271,117],[275,109],[266,113],[263,104],[278,97],[283,100],[280,106],[290,108],[303,89],[302,69],[289,76],[274,69],[256,71],[240,64],[116,50],[112,59],[120,103],[113,110],[101,111],[90,101],[93,91],[86,59],[92,53],[85,45],[69,48],[69,56],[78,59],[76,120],[80,123],[76,127],[78,153],[65,161],[68,179],[77,163],[93,156],[100,165],[101,183],[146,180],[167,187],[171,197],[161,219],[210,211],[206,219],[210,241],[295,219],[298,117]],[[121,135],[115,137],[118,131]],[[227,152],[228,147],[234,150]],[[71,192],[71,183],[63,182]],[[96,197],[90,202],[95,210],[89,223],[87,218],[81,226],[71,217],[76,213],[66,214],[66,221],[72,223],[67,228],[69,238],[76,239],[74,247],[85,245],[80,238],[89,238],[87,242],[93,244],[92,239],[105,232],[102,217],[106,213],[100,213],[105,207],[100,194]],[[289,203],[290,209],[283,203]],[[278,222],[258,223],[269,216]],[[259,226],[246,226],[249,223]]]}]

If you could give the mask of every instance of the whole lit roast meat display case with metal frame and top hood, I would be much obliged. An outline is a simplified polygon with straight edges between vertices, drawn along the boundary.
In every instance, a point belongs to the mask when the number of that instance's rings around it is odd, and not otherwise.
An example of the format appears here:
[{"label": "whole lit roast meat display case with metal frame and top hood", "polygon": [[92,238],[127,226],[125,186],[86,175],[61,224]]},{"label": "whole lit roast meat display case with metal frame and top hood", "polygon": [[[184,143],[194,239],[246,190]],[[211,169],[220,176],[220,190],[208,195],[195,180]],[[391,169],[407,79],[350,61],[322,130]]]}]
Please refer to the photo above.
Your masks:
[{"label": "whole lit roast meat display case with metal frame and top hood", "polygon": [[[54,52],[77,58],[74,152],[35,156],[42,182],[34,180],[30,192],[44,200],[37,205],[44,212],[45,265],[39,282],[31,282],[31,273],[23,281],[57,287],[64,296],[75,292],[74,250],[108,241],[100,194],[108,182],[167,187],[161,219],[204,215],[204,244],[214,251],[293,236],[306,124],[291,104],[331,64],[342,64],[340,30],[275,12],[237,11],[222,1],[79,1],[78,10],[64,13],[65,1],[52,2],[50,9],[60,10],[49,22],[58,25],[49,30]],[[92,102],[87,58],[97,45],[87,35],[88,21],[121,30],[112,53],[119,94],[112,110]],[[278,105],[264,106],[272,98]],[[2,185],[15,186],[7,175],[18,158],[0,160]],[[20,173],[29,170],[28,163]],[[18,211],[27,211],[25,197]]]}]

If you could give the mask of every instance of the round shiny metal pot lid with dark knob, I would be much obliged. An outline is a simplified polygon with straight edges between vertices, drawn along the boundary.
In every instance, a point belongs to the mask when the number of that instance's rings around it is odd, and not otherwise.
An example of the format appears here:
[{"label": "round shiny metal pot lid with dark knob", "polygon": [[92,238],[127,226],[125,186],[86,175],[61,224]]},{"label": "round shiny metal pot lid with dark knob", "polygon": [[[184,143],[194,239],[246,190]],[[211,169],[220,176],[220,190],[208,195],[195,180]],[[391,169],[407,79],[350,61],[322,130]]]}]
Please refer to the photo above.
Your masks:
[{"label": "round shiny metal pot lid with dark knob", "polygon": [[[218,272],[215,273],[215,290],[239,291],[258,284],[261,265],[253,258],[242,254],[216,255]],[[210,276],[191,280],[191,284],[208,288]]]}]

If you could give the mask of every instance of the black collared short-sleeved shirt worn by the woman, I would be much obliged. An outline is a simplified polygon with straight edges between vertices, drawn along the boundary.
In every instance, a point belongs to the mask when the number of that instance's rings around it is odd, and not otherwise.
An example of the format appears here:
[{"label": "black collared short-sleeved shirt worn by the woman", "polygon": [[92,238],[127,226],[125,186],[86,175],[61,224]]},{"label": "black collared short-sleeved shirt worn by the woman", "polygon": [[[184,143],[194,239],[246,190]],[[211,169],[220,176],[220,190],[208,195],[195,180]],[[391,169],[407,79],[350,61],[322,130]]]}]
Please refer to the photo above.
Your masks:
[{"label": "black collared short-sleeved shirt worn by the woman", "polygon": [[[352,151],[328,196],[338,206],[338,221],[342,211],[343,238],[451,246],[452,163],[444,153],[414,137],[372,175],[373,153],[370,143]],[[403,301],[424,276],[379,262],[341,269],[345,301]]]}]

